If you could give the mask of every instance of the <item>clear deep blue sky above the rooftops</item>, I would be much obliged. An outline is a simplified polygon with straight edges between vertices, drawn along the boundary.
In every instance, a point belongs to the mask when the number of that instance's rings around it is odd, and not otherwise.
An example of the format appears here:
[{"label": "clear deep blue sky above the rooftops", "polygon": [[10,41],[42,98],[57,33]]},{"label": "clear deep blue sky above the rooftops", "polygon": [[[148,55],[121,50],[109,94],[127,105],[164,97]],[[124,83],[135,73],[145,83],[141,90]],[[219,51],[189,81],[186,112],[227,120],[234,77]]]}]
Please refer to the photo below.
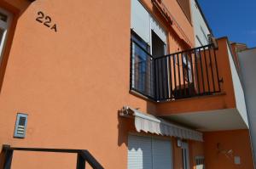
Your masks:
[{"label": "clear deep blue sky above the rooftops", "polygon": [[198,0],[215,37],[256,47],[256,0]]}]

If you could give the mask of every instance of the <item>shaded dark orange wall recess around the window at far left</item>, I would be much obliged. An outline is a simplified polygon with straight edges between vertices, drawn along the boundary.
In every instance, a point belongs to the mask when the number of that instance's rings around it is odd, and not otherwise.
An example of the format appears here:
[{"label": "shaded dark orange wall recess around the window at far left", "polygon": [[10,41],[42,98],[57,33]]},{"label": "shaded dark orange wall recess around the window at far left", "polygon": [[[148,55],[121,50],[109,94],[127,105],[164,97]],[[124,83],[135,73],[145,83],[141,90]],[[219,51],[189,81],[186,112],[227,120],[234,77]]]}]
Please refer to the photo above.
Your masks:
[{"label": "shaded dark orange wall recess around the window at far left", "polygon": [[32,2],[29,0],[24,0],[22,2],[3,0],[0,2],[0,8],[3,8],[7,10],[9,13],[13,14],[13,18],[9,25],[8,37],[6,38],[6,41],[5,41],[5,48],[3,48],[3,53],[0,56],[0,93],[3,87],[3,79],[4,79],[8,59],[9,59],[10,49],[15,36],[15,29],[16,29],[17,22],[20,16],[26,11],[27,8],[29,8],[31,4]]}]

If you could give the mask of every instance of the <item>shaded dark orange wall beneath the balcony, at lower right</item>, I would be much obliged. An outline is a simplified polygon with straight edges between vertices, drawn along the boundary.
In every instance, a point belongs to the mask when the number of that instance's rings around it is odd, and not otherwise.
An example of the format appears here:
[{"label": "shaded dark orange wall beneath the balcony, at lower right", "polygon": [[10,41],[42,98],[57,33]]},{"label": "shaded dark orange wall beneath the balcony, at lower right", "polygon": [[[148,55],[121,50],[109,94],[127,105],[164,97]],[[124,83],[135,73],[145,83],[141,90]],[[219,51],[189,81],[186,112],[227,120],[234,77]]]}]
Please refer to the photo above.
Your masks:
[{"label": "shaded dark orange wall beneath the balcony, at lower right", "polygon": [[[206,168],[253,169],[253,154],[248,130],[205,132],[204,141]],[[224,152],[230,149],[233,150],[233,154],[225,155]],[[235,156],[240,156],[240,165],[235,165]]]}]

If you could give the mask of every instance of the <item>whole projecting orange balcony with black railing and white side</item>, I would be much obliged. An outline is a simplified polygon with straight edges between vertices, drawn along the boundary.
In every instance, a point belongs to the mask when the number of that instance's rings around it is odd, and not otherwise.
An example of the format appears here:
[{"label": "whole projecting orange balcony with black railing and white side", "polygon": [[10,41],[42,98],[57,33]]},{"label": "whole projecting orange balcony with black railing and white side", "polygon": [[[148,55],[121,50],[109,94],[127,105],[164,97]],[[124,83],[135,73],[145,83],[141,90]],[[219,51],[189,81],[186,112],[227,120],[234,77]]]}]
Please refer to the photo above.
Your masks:
[{"label": "whole projecting orange balcony with black railing and white side", "polygon": [[227,38],[154,57],[131,40],[131,93],[150,99],[156,115],[201,131],[248,127],[243,89]]}]

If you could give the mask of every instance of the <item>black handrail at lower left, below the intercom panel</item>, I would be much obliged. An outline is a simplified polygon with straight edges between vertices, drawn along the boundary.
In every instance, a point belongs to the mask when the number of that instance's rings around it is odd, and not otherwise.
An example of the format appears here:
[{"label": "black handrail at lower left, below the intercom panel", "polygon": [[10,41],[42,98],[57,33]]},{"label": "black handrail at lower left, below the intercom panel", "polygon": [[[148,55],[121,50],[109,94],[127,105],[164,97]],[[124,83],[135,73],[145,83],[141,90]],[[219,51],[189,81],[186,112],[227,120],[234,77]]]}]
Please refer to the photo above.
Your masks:
[{"label": "black handrail at lower left, below the intercom panel", "polygon": [[103,166],[96,161],[93,155],[86,149],[44,149],[44,148],[18,148],[10,145],[3,145],[3,169],[10,169],[14,151],[40,151],[54,153],[73,153],[77,154],[77,169],[85,169],[85,162],[88,162],[94,169],[103,169]]}]

